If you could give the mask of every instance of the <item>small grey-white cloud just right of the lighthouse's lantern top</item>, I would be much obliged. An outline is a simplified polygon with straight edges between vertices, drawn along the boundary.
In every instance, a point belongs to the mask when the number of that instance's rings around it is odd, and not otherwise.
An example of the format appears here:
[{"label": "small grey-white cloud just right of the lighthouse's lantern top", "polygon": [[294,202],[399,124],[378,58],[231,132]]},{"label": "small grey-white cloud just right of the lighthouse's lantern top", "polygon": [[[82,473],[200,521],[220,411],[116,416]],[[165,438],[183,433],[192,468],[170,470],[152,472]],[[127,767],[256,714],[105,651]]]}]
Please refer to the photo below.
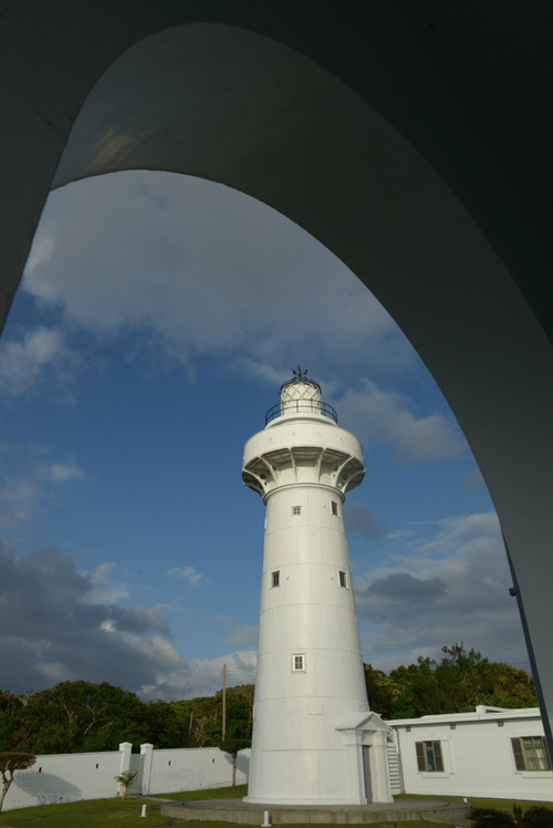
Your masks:
[{"label": "small grey-white cloud just right of the lighthouse's lantern top", "polygon": [[414,403],[397,391],[385,391],[362,380],[359,390],[349,390],[336,405],[341,423],[362,437],[389,445],[405,463],[449,459],[466,449],[452,418],[444,414],[417,417]]}]

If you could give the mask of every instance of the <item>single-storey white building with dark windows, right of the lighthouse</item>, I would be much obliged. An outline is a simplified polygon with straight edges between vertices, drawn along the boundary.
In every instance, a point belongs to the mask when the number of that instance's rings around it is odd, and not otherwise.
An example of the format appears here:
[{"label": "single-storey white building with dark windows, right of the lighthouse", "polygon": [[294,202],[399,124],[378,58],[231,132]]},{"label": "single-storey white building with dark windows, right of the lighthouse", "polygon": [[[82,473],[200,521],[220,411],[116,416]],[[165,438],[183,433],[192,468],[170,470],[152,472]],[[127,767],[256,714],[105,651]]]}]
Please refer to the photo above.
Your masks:
[{"label": "single-storey white building with dark windows, right of the lighthouse", "polygon": [[[406,794],[553,801],[538,707],[390,720]],[[396,793],[396,791],[394,791]]]}]

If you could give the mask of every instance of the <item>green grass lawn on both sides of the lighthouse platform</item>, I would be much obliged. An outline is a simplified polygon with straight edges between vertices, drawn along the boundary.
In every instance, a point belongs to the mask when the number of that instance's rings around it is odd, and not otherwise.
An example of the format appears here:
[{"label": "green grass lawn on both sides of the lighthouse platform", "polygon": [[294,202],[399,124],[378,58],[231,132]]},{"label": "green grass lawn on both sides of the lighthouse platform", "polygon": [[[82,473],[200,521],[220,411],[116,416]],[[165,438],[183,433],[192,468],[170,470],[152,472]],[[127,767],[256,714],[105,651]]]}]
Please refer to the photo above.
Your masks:
[{"label": "green grass lawn on both sides of the lighthouse platform", "polygon": [[[236,788],[202,788],[201,790],[186,790],[180,794],[159,794],[163,799],[216,799],[216,798],[241,798],[246,796],[247,786],[241,785]],[[401,798],[401,797],[396,797]],[[461,800],[462,797],[409,797],[406,799],[439,799],[447,798]],[[477,807],[498,808],[499,810],[512,810],[513,800],[511,799],[469,799],[471,805]],[[147,816],[140,817],[142,806],[146,805]],[[531,803],[518,801],[524,809],[532,805],[547,805],[550,803]],[[65,803],[63,805],[39,805],[34,808],[20,808],[18,810],[6,811],[0,814],[0,826],[13,826],[13,828],[23,828],[30,822],[38,821],[41,828],[102,828],[102,826],[142,826],[142,828],[154,828],[154,826],[178,825],[175,819],[164,817],[159,813],[159,803],[136,797],[124,801],[118,797],[112,799],[90,799],[80,803]],[[394,820],[397,828],[451,828],[451,825],[445,826],[439,822],[427,822],[417,820],[417,822],[407,822],[405,820]],[[209,822],[197,821],[195,828],[231,828],[229,822]],[[368,828],[379,828],[382,824],[374,822]],[[389,825],[389,821],[386,822]],[[244,827],[248,828],[248,827]],[[305,825],[289,825],[286,828],[305,828]],[[310,828],[328,828],[328,826],[317,826],[310,824]],[[362,828],[359,826],[359,828]]]}]

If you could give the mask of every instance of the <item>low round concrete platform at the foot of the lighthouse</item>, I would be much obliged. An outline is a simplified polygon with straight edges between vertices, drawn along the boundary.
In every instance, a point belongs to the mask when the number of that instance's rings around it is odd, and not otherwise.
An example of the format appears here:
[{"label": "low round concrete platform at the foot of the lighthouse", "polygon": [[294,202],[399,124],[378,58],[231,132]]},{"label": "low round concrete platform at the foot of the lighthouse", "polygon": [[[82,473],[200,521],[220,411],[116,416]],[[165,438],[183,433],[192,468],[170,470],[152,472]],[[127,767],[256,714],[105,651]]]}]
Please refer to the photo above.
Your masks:
[{"label": "low round concrete platform at the foot of the lighthouse", "polygon": [[[269,819],[265,821],[265,811]],[[427,819],[455,826],[469,825],[470,805],[447,799],[397,799],[393,804],[372,805],[258,805],[241,799],[197,799],[185,803],[165,800],[161,814],[185,822],[217,820],[242,825],[366,825]]]}]

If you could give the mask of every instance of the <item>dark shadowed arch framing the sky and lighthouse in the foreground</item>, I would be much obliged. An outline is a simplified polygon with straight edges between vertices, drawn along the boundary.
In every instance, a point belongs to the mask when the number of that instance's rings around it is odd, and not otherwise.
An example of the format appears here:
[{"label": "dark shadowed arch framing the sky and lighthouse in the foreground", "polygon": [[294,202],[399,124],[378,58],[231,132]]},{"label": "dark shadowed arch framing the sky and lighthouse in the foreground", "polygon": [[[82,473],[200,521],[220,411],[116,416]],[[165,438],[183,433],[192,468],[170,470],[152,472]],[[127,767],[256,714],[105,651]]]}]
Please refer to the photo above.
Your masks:
[{"label": "dark shadowed arch framing the sky and lighthouse in the foreground", "polygon": [[90,175],[202,176],[304,227],[396,319],[471,445],[550,744],[552,9],[8,0],[0,30],[4,311],[48,192]]}]

